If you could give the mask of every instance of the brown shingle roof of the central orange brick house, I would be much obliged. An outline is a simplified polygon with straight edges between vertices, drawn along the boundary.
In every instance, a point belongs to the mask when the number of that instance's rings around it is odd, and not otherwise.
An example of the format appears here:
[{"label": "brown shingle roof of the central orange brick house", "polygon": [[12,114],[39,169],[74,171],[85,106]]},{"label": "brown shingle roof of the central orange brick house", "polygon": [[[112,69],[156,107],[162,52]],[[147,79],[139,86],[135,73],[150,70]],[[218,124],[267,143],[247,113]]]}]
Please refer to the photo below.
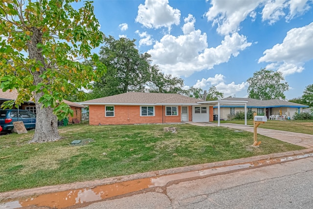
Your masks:
[{"label": "brown shingle roof of the central orange brick house", "polygon": [[81,102],[81,104],[195,104],[203,101],[188,96],[183,96],[177,93],[142,93],[142,92],[128,92],[113,96],[107,96],[97,99],[91,99]]}]

